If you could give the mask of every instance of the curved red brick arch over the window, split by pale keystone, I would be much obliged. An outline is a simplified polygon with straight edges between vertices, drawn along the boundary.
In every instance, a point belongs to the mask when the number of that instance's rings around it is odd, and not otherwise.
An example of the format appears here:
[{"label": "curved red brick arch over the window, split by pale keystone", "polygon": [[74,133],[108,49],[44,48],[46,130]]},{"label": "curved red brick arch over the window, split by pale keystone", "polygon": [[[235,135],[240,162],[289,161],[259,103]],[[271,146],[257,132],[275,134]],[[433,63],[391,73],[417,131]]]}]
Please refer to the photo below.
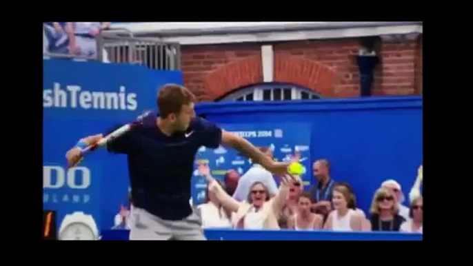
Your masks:
[{"label": "curved red brick arch over the window, split by pale keystone", "polygon": [[[292,56],[276,56],[274,59],[274,81],[294,83],[323,96],[334,94],[335,72],[326,65],[310,59]],[[204,76],[205,89],[210,99],[237,88],[263,82],[261,57],[246,57],[217,68]]]}]

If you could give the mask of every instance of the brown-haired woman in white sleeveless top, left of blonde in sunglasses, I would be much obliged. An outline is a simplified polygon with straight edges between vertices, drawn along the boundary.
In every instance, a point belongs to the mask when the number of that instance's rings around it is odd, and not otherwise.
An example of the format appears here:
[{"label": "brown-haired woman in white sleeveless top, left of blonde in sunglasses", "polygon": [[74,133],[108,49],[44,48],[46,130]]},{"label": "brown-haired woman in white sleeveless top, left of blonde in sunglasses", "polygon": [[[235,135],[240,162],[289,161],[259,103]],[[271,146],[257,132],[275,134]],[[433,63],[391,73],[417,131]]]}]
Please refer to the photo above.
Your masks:
[{"label": "brown-haired woman in white sleeveless top, left of blonde in sunglasses", "polygon": [[361,231],[363,216],[351,209],[354,195],[345,185],[335,185],[332,196],[334,210],[328,215],[324,229],[334,231]]}]

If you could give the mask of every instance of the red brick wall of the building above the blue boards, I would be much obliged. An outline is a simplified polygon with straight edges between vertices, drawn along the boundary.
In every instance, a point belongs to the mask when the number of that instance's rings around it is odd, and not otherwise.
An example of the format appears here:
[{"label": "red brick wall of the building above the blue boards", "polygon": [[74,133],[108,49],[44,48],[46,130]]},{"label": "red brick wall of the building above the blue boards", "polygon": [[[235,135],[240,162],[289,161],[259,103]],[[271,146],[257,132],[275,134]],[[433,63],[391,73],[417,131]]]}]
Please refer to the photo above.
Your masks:
[{"label": "red brick wall of the building above the blue boards", "polygon": [[[272,43],[274,81],[296,83],[328,97],[359,96],[356,39]],[[374,95],[419,94],[422,41],[379,43]],[[184,84],[201,101],[263,81],[261,43],[183,46]]]}]

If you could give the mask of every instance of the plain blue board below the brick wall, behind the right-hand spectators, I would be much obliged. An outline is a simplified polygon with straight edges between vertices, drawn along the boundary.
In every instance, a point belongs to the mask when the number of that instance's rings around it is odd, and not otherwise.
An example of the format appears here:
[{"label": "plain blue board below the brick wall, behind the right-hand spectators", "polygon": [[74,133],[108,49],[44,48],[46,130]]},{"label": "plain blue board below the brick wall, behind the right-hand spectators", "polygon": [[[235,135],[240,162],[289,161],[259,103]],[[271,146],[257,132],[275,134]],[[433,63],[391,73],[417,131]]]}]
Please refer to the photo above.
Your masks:
[{"label": "plain blue board below the brick wall, behind the right-hand spectators", "polygon": [[350,183],[366,214],[386,179],[398,181],[408,198],[423,160],[421,96],[201,103],[196,112],[229,125],[309,123],[311,161],[328,159],[330,176]]}]

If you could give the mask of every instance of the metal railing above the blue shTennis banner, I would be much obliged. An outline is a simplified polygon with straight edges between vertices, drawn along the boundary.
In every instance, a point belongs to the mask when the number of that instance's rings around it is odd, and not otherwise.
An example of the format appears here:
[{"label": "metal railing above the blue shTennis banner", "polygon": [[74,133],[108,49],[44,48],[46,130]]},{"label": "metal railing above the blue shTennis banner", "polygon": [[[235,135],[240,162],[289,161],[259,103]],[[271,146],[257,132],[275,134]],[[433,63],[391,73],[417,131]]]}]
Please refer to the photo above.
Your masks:
[{"label": "metal railing above the blue shTennis banner", "polygon": [[179,43],[163,43],[157,39],[134,37],[133,33],[125,28],[105,30],[96,37],[96,40],[96,57],[53,52],[44,52],[43,57],[139,64],[155,70],[181,69]]}]

